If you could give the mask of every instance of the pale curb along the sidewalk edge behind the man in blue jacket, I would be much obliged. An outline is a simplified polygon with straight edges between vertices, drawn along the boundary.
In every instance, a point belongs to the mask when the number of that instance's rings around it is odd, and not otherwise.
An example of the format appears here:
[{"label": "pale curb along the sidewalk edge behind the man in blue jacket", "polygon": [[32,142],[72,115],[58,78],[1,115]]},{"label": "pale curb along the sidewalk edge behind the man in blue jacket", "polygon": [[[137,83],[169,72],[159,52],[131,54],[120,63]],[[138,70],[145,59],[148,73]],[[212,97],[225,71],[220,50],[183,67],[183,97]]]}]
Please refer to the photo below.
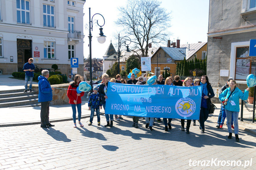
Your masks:
[{"label": "pale curb along the sidewalk edge behind the man in blue jacket", "polygon": [[[104,115],[104,113],[100,113],[100,115]],[[96,114],[94,114],[94,116],[97,116]],[[84,119],[84,118],[89,118],[90,115],[85,115],[85,116],[81,116],[81,119]],[[78,118],[77,118],[78,119]],[[61,119],[53,119],[51,120],[50,122],[53,123],[53,122],[64,122],[64,121],[70,121],[70,120],[73,120],[72,117],[70,118],[61,118]],[[6,123],[6,124],[0,124],[0,127],[11,127],[11,126],[23,126],[23,125],[31,125],[31,124],[41,124],[40,121],[36,121],[36,122],[17,122],[17,123]]]}]

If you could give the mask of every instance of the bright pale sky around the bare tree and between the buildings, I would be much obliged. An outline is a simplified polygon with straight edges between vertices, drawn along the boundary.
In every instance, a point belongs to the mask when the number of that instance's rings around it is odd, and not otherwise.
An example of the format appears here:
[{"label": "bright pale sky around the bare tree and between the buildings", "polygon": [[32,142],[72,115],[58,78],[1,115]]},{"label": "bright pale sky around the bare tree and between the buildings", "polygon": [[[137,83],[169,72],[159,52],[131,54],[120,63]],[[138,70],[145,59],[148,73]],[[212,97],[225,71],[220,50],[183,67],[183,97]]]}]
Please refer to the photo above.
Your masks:
[{"label": "bright pale sky around the bare tree and between the buildings", "polygon": [[[112,44],[118,43],[114,39],[114,34],[118,35],[120,28],[116,27],[114,21],[117,20],[119,11],[117,7],[125,6],[126,0],[86,0],[84,4],[84,25],[89,23],[89,7],[91,8],[91,17],[100,13],[105,19],[103,33],[106,35],[106,42],[98,43],[99,26],[93,25],[92,33],[92,58],[102,58],[104,56],[110,41]],[[171,13],[171,27],[169,31],[172,33],[170,37],[166,37],[171,41],[179,38],[180,44],[197,43],[198,41],[207,42],[208,19],[209,19],[209,0],[162,0],[161,7],[167,9]],[[97,19],[100,24],[103,19],[100,15],[95,15],[93,20]],[[89,30],[84,27],[84,57],[89,55]],[[120,35],[122,37],[122,35]],[[157,47],[158,44],[152,44]],[[163,46],[163,45],[162,45]],[[166,46],[166,45],[165,45]],[[115,47],[115,46],[114,46]],[[116,51],[118,50],[115,47]],[[122,47],[124,49],[124,46]]]}]

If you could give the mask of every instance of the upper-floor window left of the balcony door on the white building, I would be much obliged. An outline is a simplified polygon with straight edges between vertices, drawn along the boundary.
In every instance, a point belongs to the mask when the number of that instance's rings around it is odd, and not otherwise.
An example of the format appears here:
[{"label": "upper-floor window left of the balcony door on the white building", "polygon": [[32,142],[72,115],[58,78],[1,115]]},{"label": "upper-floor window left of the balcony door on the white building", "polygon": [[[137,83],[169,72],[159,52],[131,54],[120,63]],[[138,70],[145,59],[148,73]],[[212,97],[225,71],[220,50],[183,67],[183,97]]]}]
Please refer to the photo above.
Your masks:
[{"label": "upper-floor window left of the balcony door on the white building", "polygon": [[43,4],[43,20],[45,27],[55,27],[54,6]]}]

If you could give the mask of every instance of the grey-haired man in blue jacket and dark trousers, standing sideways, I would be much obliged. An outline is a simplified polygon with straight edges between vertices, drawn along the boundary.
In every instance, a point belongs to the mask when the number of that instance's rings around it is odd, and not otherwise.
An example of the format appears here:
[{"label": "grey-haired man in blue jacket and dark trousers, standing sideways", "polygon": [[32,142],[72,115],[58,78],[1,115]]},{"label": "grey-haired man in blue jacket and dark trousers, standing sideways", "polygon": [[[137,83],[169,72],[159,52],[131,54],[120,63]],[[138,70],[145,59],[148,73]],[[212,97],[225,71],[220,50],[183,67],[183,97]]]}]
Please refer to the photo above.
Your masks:
[{"label": "grey-haired man in blue jacket and dark trousers, standing sideways", "polygon": [[41,127],[48,128],[55,125],[50,124],[49,122],[49,104],[53,100],[52,91],[54,88],[51,88],[50,82],[47,80],[49,78],[49,71],[42,70],[42,75],[38,77],[38,88],[39,88],[39,97],[38,102],[41,102]]}]

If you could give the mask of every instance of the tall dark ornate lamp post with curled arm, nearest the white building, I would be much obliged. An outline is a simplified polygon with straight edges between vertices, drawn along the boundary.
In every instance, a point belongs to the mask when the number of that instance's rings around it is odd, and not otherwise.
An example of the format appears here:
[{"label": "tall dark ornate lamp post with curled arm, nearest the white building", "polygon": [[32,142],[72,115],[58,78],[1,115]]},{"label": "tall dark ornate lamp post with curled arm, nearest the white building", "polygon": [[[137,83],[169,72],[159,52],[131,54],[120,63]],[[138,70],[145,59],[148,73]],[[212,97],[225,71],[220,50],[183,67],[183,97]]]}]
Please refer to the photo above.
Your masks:
[{"label": "tall dark ornate lamp post with curled arm, nearest the white building", "polygon": [[[98,13],[96,13],[96,14],[98,14]],[[94,14],[94,15],[96,15],[96,14]],[[94,15],[93,15],[93,17],[94,17]],[[101,14],[99,14],[99,15],[101,15]],[[92,92],[93,91],[93,73],[92,73],[92,34],[91,34],[91,30],[93,31],[93,17],[92,17],[92,19],[91,19],[91,8],[89,8],[89,49],[90,49],[90,85],[91,85],[91,87],[92,87],[92,89],[90,90],[90,92]],[[105,24],[105,19],[104,19],[104,17],[101,15],[101,17],[103,18],[103,20],[104,20],[104,24]],[[103,24],[103,25],[104,25]],[[106,36],[103,34],[103,32],[102,32],[102,30],[103,30],[103,28],[101,28],[103,25],[99,25],[98,24],[98,20],[97,20],[97,25],[98,26],[100,26],[100,28],[99,28],[99,30],[100,30],[100,33],[99,33],[99,35],[100,36],[98,36],[97,38],[98,38],[98,42],[99,43],[105,43],[105,41],[106,41]],[[86,25],[87,26],[87,25]],[[86,27],[85,26],[85,27]]]}]

